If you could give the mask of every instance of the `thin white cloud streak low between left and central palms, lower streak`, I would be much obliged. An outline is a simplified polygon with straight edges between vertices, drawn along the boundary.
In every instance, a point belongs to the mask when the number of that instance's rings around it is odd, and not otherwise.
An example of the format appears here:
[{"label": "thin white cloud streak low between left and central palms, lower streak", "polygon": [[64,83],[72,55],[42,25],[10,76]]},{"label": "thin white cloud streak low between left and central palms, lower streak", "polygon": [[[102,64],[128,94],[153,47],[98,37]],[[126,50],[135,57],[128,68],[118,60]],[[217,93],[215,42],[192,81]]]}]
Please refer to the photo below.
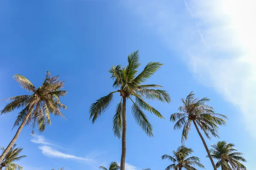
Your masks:
[{"label": "thin white cloud streak low between left and central palms, lower streak", "polygon": [[82,160],[82,161],[92,161],[92,159],[87,159],[87,158],[82,158],[82,157],[62,153],[62,152],[55,150],[52,147],[47,146],[47,145],[39,146],[38,148],[41,149],[42,153],[48,157],[63,158],[63,159],[76,159],[76,160]]}]

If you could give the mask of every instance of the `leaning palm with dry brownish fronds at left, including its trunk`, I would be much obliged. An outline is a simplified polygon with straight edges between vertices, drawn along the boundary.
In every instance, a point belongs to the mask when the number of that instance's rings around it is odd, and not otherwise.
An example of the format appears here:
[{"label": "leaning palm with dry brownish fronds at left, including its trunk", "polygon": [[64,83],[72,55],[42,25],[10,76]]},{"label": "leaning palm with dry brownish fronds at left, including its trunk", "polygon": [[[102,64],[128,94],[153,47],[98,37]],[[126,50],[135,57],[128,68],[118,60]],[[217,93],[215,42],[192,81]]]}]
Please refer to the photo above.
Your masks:
[{"label": "leaning palm with dry brownish fronds at left, including its trunk", "polygon": [[59,80],[59,76],[51,77],[51,74],[47,71],[44,82],[38,89],[26,77],[20,74],[15,74],[14,79],[22,88],[25,88],[32,94],[4,99],[9,100],[10,103],[3,108],[1,114],[9,113],[21,107],[23,107],[23,110],[20,111],[14,124],[14,127],[19,126],[18,130],[8,147],[0,156],[0,162],[3,161],[6,154],[12,148],[12,145],[17,140],[25,125],[31,125],[32,134],[34,133],[36,124],[38,125],[39,132],[43,132],[47,124],[51,125],[50,113],[53,113],[55,116],[63,116],[60,109],[67,109],[60,102],[60,97],[65,96],[67,91],[61,91],[61,88],[64,87],[64,82]]}]

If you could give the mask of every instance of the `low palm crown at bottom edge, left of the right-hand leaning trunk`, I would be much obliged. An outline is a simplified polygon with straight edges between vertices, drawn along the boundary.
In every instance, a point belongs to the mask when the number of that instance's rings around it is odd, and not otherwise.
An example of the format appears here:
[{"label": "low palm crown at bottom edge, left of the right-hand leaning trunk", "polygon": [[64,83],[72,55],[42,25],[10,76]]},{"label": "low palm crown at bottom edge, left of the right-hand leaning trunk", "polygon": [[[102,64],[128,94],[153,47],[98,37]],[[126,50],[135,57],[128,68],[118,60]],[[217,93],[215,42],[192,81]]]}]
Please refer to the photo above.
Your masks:
[{"label": "low palm crown at bottom edge, left of the right-hand leaning trunk", "polygon": [[193,153],[193,150],[185,146],[180,146],[178,149],[172,152],[173,156],[163,155],[163,159],[168,159],[172,161],[173,164],[166,167],[165,170],[181,170],[185,168],[186,170],[196,170],[193,166],[198,166],[205,168],[204,165],[200,163],[200,159],[196,156],[188,157]]}]

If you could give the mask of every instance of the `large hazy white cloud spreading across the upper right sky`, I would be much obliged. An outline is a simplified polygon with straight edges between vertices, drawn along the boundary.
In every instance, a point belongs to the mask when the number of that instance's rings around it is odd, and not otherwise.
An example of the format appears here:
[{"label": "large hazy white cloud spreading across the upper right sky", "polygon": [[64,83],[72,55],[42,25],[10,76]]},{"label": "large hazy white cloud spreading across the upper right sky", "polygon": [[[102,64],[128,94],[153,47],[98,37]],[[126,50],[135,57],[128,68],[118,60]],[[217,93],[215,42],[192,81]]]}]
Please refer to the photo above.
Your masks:
[{"label": "large hazy white cloud spreading across the upper right sky", "polygon": [[169,48],[186,51],[184,61],[196,79],[236,105],[256,138],[256,2],[128,0],[125,5]]}]

